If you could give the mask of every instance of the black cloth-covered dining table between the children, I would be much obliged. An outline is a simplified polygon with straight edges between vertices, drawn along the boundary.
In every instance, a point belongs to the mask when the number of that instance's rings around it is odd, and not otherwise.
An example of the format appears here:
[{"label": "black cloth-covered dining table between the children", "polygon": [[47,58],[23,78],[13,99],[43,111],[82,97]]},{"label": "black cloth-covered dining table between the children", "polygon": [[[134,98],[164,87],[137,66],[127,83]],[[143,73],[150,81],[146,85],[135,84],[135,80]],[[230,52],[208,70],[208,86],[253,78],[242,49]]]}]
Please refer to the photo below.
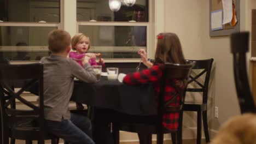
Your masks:
[{"label": "black cloth-covered dining table between the children", "polygon": [[101,109],[129,115],[155,115],[155,92],[152,83],[130,86],[106,76],[96,83],[74,82],[71,100]]}]

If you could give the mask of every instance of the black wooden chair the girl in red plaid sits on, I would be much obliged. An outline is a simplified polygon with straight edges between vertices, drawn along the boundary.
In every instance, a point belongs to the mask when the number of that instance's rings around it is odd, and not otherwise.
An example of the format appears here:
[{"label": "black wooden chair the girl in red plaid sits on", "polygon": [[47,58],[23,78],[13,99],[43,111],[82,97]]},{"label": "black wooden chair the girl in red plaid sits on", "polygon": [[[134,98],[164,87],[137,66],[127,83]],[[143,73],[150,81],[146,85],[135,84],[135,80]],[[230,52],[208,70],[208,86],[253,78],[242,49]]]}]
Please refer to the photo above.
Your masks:
[{"label": "black wooden chair the girl in red plaid sits on", "polygon": [[[189,64],[172,64],[172,63],[166,63],[165,64],[165,69],[162,73],[162,77],[160,80],[160,94],[159,94],[159,99],[158,99],[158,115],[155,116],[145,116],[146,121],[140,121],[138,123],[131,123],[134,127],[126,127],[128,129],[123,129],[122,123],[113,123],[113,133],[114,133],[114,139],[115,139],[115,144],[119,143],[119,130],[123,131],[130,131],[133,133],[142,133],[142,134],[157,134],[157,143],[162,144],[164,140],[164,134],[165,133],[171,133],[172,134],[172,141],[173,143],[177,143],[177,132],[178,131],[168,131],[167,129],[164,129],[162,126],[162,121],[163,121],[163,115],[164,113],[180,113],[183,109],[183,102],[184,102],[184,88],[187,87],[187,79],[190,75],[191,68],[193,67],[193,63]],[[172,80],[177,79],[177,80],[182,80],[183,81],[183,87],[177,87],[174,82],[172,83],[173,87],[176,88],[177,93],[176,95],[168,100],[164,101],[164,95],[165,95],[165,85],[166,85],[166,80]],[[178,96],[181,97],[178,97]],[[179,99],[179,105],[178,106],[170,106],[170,103],[173,100]],[[143,116],[131,116],[134,119],[137,119],[138,121],[139,118]],[[178,126],[178,129],[180,127]],[[150,140],[148,140],[148,143],[152,142],[152,137],[149,137]],[[179,139],[178,139],[179,140]],[[178,141],[178,143],[182,143],[182,141]]]}]

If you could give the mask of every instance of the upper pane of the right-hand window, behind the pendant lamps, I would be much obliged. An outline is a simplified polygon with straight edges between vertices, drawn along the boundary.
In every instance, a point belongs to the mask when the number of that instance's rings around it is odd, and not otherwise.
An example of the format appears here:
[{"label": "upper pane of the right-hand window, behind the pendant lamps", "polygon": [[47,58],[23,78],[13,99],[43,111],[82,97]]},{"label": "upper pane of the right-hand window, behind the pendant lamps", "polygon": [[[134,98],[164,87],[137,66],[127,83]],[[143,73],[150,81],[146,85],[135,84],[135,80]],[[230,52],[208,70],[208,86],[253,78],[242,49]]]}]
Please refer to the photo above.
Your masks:
[{"label": "upper pane of the right-hand window, behind the pendant lamps", "polygon": [[148,0],[137,0],[132,7],[122,4],[117,12],[109,9],[106,0],[77,0],[77,21],[138,21],[138,11],[144,11],[143,21],[148,22]]}]

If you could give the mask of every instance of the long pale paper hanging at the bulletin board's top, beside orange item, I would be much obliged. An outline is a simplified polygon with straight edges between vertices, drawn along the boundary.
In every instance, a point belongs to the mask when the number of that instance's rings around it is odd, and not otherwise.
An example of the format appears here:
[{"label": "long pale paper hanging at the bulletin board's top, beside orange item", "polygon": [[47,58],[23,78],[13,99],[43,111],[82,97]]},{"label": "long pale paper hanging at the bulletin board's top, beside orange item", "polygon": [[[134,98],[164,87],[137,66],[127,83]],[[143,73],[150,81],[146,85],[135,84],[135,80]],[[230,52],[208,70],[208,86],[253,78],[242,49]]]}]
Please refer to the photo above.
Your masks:
[{"label": "long pale paper hanging at the bulletin board's top, beside orange item", "polygon": [[223,4],[223,25],[231,22],[233,16],[232,0],[222,0]]}]

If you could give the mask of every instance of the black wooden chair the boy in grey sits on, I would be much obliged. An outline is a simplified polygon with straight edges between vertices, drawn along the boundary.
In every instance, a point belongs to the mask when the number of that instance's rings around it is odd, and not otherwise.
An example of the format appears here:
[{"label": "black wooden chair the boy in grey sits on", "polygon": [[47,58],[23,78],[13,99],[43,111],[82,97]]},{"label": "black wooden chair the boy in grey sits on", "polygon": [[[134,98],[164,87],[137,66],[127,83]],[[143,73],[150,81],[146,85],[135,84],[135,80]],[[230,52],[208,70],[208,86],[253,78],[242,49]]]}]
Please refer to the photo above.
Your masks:
[{"label": "black wooden chair the boy in grey sits on", "polygon": [[[43,95],[43,64],[0,64],[0,107],[2,120],[2,143],[11,139],[26,140],[32,143],[44,143],[44,140],[56,142],[54,136],[46,132],[44,125],[44,95]],[[7,81],[30,80],[18,92],[15,92]],[[39,82],[39,105],[32,104],[22,98],[25,89]],[[11,104],[19,100],[27,109],[17,109]]]}]

